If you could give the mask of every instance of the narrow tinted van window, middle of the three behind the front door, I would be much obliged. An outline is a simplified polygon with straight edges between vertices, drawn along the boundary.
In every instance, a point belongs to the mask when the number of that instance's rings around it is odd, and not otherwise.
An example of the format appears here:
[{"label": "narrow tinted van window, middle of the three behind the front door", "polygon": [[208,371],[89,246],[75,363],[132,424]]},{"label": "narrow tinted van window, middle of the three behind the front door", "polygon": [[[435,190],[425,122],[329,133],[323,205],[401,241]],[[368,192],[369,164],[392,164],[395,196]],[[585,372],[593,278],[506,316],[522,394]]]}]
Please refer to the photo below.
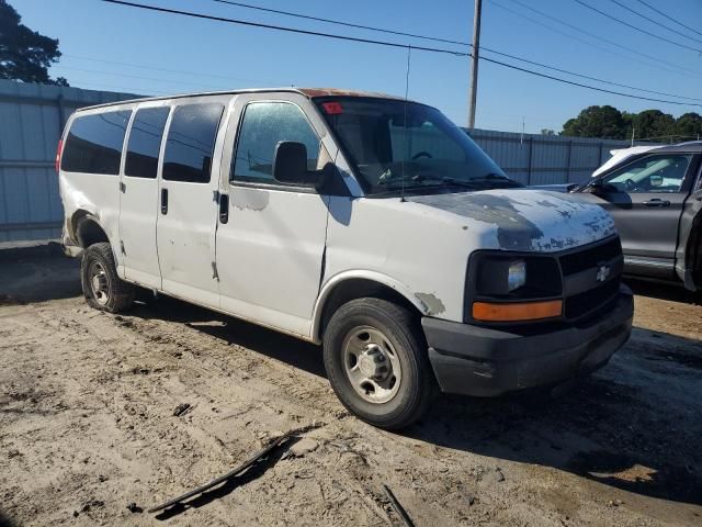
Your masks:
[{"label": "narrow tinted van window, middle of the three behind the front door", "polygon": [[145,108],[136,112],[127,143],[125,176],[156,178],[168,112],[169,108]]}]

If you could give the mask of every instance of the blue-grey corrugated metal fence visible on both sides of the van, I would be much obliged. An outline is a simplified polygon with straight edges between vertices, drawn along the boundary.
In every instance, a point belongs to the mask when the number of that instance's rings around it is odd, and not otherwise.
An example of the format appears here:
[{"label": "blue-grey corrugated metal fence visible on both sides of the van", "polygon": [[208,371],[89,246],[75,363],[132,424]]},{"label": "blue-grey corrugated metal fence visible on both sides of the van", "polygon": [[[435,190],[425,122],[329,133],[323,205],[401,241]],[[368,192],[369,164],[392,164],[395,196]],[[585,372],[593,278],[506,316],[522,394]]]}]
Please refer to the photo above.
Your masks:
[{"label": "blue-grey corrugated metal fence visible on both sides of the van", "polygon": [[[138,96],[0,80],[0,243],[52,239],[63,221],[56,145],[78,108]],[[475,130],[472,137],[526,184],[582,181],[626,142]]]}]

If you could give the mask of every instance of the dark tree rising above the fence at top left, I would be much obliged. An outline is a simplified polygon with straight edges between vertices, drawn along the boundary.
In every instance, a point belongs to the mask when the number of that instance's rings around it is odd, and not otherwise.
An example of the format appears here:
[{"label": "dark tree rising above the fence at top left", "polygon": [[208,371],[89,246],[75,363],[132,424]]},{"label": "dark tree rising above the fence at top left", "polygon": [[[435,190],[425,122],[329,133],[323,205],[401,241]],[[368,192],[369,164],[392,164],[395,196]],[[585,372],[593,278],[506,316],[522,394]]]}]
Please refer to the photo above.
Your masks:
[{"label": "dark tree rising above the fence at top left", "polygon": [[15,9],[0,0],[0,79],[68,86],[65,78],[52,79],[48,75],[48,67],[61,56],[58,40],[21,22]]}]

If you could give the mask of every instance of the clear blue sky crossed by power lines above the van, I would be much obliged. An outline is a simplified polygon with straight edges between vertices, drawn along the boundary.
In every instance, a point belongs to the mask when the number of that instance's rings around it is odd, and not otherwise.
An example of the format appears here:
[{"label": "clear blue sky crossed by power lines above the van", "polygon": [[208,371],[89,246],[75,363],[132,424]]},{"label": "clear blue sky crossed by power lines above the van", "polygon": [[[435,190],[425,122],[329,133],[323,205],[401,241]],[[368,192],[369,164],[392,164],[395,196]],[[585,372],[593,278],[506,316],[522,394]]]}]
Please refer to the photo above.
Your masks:
[{"label": "clear blue sky crossed by power lines above the van", "polygon": [[[212,0],[135,1],[401,44],[466,49],[449,44],[412,41],[404,36],[291,19],[224,5]],[[469,41],[472,34],[471,0],[244,1],[265,8],[449,40]],[[592,77],[702,99],[702,53],[641,34],[587,10],[575,0],[519,1],[660,61],[615,48],[600,40],[559,25],[530,12],[514,0],[484,0],[484,46]],[[689,33],[666,19],[660,20],[701,42],[683,38],[642,20],[612,0],[587,1],[630,23],[702,49],[702,36]],[[619,1],[659,19],[637,0]],[[646,1],[702,32],[702,1]],[[400,96],[405,92],[405,49],[151,13],[99,0],[9,2],[30,27],[60,40],[64,57],[59,65],[52,68],[52,75],[65,76],[71,86],[76,87],[144,94],[291,85],[333,86]],[[539,23],[516,13],[526,15]],[[575,35],[579,41],[563,33]],[[520,65],[514,60],[487,53],[486,56]],[[530,65],[520,66],[550,72]],[[414,51],[410,61],[409,97],[441,109],[457,124],[465,125],[468,71],[469,63],[465,57]],[[550,74],[597,85],[564,74]],[[597,86],[621,90],[616,87]],[[638,94],[669,99],[649,93]],[[702,104],[702,101],[694,102]],[[702,113],[702,106],[637,101],[565,86],[480,63],[477,127],[520,131],[524,119],[526,132],[539,132],[541,128],[559,131],[567,119],[591,104],[612,104],[630,112],[655,108],[676,116],[689,111]]]}]

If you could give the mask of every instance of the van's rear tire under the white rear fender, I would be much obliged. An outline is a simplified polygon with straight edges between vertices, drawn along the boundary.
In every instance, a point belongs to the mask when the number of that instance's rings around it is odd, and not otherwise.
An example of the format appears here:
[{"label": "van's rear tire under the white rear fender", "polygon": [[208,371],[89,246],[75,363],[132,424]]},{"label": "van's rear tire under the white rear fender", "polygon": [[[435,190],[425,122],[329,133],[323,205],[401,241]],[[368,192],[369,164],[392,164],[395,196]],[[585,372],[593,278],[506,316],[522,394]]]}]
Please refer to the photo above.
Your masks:
[{"label": "van's rear tire under the white rear fender", "polygon": [[[102,270],[99,293],[95,293],[92,284],[97,268]],[[135,288],[117,276],[112,247],[106,242],[93,244],[83,251],[80,283],[88,304],[95,310],[120,313],[132,307]]]}]

